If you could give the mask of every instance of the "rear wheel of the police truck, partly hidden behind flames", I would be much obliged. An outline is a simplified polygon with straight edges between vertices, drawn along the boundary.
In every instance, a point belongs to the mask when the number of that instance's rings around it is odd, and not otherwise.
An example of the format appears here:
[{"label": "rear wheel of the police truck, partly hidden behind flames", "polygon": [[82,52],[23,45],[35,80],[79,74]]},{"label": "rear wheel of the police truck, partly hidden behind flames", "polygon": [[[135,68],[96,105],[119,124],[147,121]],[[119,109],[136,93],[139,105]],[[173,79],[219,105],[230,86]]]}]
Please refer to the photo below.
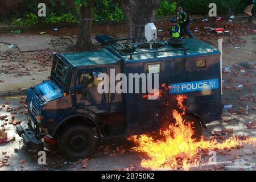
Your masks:
[{"label": "rear wheel of the police truck, partly hidden behind flames", "polygon": [[186,119],[187,122],[193,122],[192,129],[195,133],[192,135],[192,138],[200,139],[202,134],[202,126],[199,118],[195,117],[195,115],[187,114],[184,116],[184,119]]}]

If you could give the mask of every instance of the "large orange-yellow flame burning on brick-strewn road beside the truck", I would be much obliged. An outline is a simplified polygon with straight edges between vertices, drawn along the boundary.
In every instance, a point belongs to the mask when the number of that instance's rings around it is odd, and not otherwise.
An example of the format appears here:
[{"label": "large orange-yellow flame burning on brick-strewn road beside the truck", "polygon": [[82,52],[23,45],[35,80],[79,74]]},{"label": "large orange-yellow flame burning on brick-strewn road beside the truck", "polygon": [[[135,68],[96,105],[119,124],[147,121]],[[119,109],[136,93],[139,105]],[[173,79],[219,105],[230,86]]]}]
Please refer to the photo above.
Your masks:
[{"label": "large orange-yellow flame burning on brick-strewn road beside the truck", "polygon": [[[146,153],[150,159],[143,159],[141,165],[148,168],[177,168],[183,166],[188,169],[190,164],[197,164],[199,148],[204,152],[208,150],[222,150],[240,146],[242,143],[256,142],[256,138],[247,138],[244,141],[231,137],[222,143],[216,139],[201,138],[199,141],[192,138],[193,129],[191,124],[185,124],[182,115],[185,114],[183,102],[187,99],[184,95],[175,97],[177,107],[183,111],[179,113],[173,110],[172,115],[175,123],[171,123],[168,129],[160,129],[161,139],[155,139],[146,134],[134,135],[129,138],[137,144],[135,151]],[[204,153],[206,154],[206,153]]]}]

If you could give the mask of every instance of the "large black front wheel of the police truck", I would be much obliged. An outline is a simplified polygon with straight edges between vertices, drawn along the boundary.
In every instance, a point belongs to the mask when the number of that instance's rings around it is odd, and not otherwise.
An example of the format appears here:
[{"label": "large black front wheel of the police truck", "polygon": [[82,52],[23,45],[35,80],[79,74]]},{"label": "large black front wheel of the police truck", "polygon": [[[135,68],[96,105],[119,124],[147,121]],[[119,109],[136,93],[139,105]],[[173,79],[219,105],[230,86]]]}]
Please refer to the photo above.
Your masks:
[{"label": "large black front wheel of the police truck", "polygon": [[92,155],[96,138],[86,126],[71,126],[59,136],[59,150],[66,158],[78,160]]}]

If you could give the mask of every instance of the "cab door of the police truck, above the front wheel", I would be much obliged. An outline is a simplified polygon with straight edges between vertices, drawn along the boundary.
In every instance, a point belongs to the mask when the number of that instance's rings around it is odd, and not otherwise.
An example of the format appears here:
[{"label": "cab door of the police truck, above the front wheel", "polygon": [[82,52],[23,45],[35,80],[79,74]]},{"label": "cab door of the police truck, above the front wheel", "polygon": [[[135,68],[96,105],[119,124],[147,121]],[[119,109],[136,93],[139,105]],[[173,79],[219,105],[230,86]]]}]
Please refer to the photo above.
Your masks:
[{"label": "cab door of the police truck, above the front wheel", "polygon": [[98,78],[100,73],[106,73],[106,68],[86,68],[79,69],[76,85],[76,105],[77,109],[89,107],[96,113],[102,113],[109,110],[108,93],[99,93],[98,84],[102,80]]}]

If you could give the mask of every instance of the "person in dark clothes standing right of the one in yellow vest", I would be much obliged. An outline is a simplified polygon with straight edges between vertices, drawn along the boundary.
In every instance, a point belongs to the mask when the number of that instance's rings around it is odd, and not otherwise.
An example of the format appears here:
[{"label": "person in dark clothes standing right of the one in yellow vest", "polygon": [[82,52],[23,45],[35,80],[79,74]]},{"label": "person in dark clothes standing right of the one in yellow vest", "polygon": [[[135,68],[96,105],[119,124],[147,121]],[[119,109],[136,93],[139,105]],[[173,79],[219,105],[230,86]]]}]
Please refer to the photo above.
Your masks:
[{"label": "person in dark clothes standing right of the one in yellow vest", "polygon": [[187,13],[183,11],[183,8],[181,6],[178,7],[178,14],[179,16],[177,17],[177,19],[180,21],[181,35],[184,35],[186,33],[190,38],[193,38],[194,36],[191,34],[191,31],[189,31],[188,26],[188,24],[190,23],[189,17]]}]

